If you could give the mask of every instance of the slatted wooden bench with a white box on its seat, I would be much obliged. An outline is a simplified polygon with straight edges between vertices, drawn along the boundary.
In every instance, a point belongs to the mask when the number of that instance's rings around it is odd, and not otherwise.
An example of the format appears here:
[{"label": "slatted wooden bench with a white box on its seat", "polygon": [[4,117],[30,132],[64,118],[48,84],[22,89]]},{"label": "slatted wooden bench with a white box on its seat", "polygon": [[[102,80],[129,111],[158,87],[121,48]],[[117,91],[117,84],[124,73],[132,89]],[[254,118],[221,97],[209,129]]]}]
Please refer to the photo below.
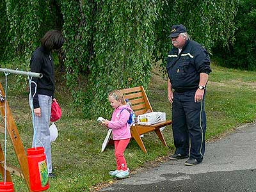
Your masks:
[{"label": "slatted wooden bench with a white box on its seat", "polygon": [[[132,104],[132,109],[136,116],[142,115],[145,113],[153,112],[153,109],[148,101],[147,94],[143,86],[137,86],[134,88],[127,88],[124,90],[120,90],[124,94],[124,99],[128,99]],[[167,147],[166,141],[164,140],[162,132],[159,130],[161,127],[165,127],[166,125],[172,124],[171,120],[166,120],[164,122],[159,122],[153,125],[133,125],[131,126],[131,134],[132,138],[138,143],[141,150],[147,154],[147,150],[143,141],[141,140],[140,135],[145,134],[147,132],[154,131],[156,132],[159,139],[162,141],[163,145]]]}]

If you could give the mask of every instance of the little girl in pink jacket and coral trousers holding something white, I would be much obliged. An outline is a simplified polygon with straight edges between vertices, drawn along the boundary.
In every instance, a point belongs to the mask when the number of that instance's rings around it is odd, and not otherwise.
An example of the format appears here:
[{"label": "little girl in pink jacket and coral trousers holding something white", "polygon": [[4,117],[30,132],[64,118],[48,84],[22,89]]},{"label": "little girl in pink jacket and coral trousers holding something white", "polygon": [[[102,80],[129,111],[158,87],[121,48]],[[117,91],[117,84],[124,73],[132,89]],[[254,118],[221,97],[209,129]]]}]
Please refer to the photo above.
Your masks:
[{"label": "little girl in pink jacket and coral trousers holding something white", "polygon": [[109,172],[112,177],[124,179],[129,176],[129,168],[124,157],[124,151],[131,139],[129,120],[132,109],[125,105],[123,94],[119,90],[114,90],[108,95],[111,106],[115,109],[111,120],[105,120],[103,125],[112,129],[113,140],[115,141],[116,170]]}]

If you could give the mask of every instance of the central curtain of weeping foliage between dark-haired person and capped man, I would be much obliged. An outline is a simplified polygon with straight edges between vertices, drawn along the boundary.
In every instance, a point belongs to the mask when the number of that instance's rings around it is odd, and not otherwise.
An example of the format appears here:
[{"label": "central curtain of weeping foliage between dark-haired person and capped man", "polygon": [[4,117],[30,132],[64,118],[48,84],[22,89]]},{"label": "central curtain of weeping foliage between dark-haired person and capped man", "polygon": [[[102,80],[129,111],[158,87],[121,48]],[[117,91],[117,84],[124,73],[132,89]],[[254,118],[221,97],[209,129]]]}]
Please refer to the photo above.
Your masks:
[{"label": "central curtain of weeping foliage between dark-haired person and capped man", "polygon": [[150,80],[156,2],[62,1],[61,5],[68,39],[67,82],[75,102],[86,117],[109,115],[108,92],[139,84],[147,87]]}]

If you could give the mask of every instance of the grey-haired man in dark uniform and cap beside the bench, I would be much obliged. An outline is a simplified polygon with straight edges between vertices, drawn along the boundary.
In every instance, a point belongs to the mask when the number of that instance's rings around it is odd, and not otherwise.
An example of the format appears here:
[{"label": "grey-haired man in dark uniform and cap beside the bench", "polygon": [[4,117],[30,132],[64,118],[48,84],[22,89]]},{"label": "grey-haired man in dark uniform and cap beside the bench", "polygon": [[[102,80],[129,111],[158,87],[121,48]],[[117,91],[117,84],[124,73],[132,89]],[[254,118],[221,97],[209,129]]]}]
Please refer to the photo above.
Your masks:
[{"label": "grey-haired man in dark uniform and cap beside the bench", "polygon": [[170,159],[189,157],[185,164],[193,166],[201,163],[204,158],[204,96],[211,72],[211,61],[202,45],[189,40],[187,30],[182,24],[172,26],[170,38],[174,47],[168,52],[167,90],[168,100],[172,103],[172,129],[176,148]]}]

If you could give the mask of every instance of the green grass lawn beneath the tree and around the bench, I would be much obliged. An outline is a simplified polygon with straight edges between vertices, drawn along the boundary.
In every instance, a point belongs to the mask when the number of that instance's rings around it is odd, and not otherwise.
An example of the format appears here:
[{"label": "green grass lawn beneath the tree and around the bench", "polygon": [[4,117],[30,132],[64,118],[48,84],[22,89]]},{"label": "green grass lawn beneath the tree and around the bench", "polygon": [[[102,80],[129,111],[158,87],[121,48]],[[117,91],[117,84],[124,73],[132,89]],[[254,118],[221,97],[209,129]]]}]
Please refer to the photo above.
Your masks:
[{"label": "green grass lawn beneath the tree and around the bench", "polygon": [[[0,78],[0,82],[5,86],[4,74],[0,74]],[[20,93],[14,92],[16,79],[13,74],[8,76],[7,99],[24,147],[30,148],[33,128],[28,89],[21,90]],[[57,83],[56,98],[63,110],[63,116],[56,122],[59,136],[52,143],[52,164],[57,177],[50,180],[51,187],[48,191],[97,191],[99,184],[115,181],[108,175],[109,170],[115,170],[114,148],[108,146],[100,153],[107,129],[100,126],[96,120],[81,118],[80,110],[72,108],[72,100],[60,84],[61,82]],[[166,97],[166,79],[155,71],[146,92],[154,111],[166,112],[167,118],[170,119],[172,111]],[[237,126],[255,120],[256,72],[212,65],[206,94],[207,140],[223,136]],[[3,118],[1,122],[3,124]],[[151,165],[161,163],[172,154],[174,149],[172,127],[166,127],[163,134],[168,148],[163,147],[156,134],[152,132],[145,134],[143,142],[148,154],[144,154],[134,140],[131,141],[125,151],[125,157],[132,173],[140,171],[140,168],[145,168],[150,163]],[[3,134],[0,136],[2,147],[3,136]],[[7,163],[18,166],[9,138],[7,144]],[[207,148],[205,152],[207,153]],[[16,191],[28,191],[24,180],[19,177],[13,176],[13,183]]]}]

